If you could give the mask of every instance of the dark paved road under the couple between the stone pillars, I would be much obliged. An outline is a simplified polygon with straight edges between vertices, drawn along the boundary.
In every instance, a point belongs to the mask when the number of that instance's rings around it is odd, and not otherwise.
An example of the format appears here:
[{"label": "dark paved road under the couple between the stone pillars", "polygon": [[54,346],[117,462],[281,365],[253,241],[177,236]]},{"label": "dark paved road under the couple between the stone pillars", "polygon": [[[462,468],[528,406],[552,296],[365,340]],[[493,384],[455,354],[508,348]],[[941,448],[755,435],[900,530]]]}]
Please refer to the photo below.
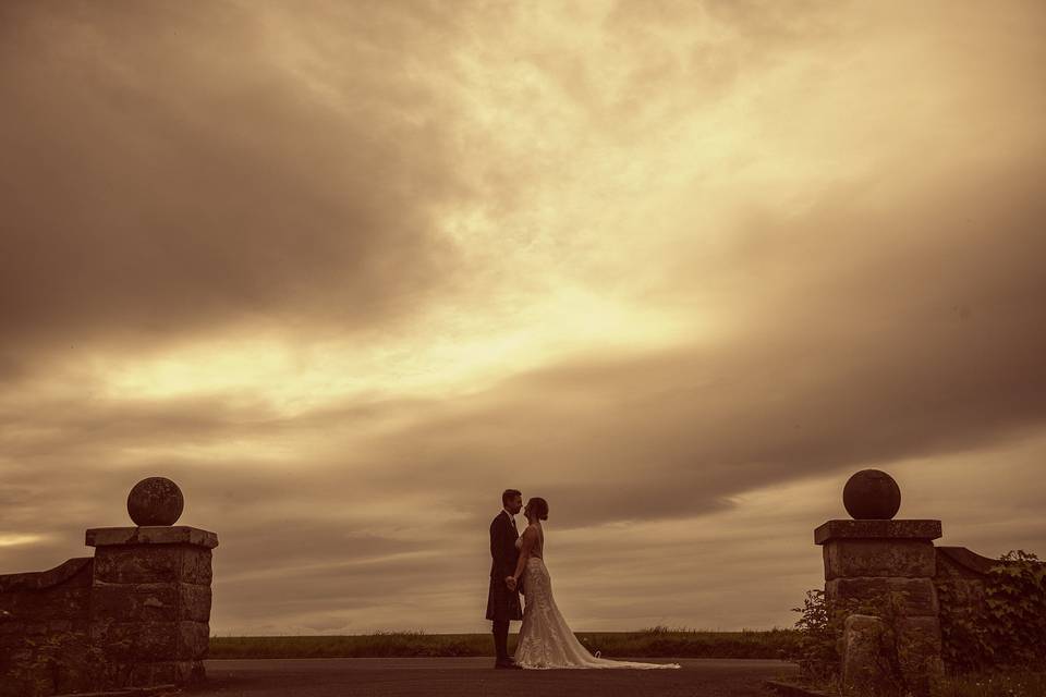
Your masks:
[{"label": "dark paved road under the couple between the stone pillars", "polygon": [[[795,672],[781,661],[646,659],[679,670],[496,671],[487,658],[315,658],[205,661],[197,697],[767,697],[761,683]],[[644,659],[636,659],[644,660]]]}]

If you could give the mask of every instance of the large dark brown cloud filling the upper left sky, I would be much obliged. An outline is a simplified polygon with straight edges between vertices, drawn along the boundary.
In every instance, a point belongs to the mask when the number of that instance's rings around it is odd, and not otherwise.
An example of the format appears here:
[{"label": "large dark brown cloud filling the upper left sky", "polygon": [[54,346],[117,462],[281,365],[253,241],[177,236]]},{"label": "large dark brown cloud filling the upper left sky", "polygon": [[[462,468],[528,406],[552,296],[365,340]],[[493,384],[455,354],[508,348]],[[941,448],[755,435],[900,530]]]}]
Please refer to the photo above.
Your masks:
[{"label": "large dark brown cloud filling the upper left sky", "polygon": [[338,39],[288,47],[231,4],[7,4],[0,378],[31,350],[423,305],[455,267],[433,217],[466,193],[410,74],[446,17],[408,10],[332,11]]}]

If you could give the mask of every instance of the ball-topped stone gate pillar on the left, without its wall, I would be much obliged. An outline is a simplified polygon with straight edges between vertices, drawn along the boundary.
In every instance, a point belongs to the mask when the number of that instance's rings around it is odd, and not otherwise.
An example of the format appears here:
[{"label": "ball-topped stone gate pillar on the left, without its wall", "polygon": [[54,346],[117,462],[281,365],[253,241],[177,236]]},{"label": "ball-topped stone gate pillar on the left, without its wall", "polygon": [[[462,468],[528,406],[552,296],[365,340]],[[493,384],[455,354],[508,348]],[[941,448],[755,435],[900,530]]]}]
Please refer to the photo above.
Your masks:
[{"label": "ball-topped stone gate pillar on the left, without its wall", "polygon": [[171,525],[181,513],[181,492],[173,500],[177,487],[170,487],[169,479],[154,477],[129,497],[135,522],[159,524],[87,530],[86,543],[95,548],[88,632],[102,659],[99,688],[185,685],[205,677],[218,536]]}]

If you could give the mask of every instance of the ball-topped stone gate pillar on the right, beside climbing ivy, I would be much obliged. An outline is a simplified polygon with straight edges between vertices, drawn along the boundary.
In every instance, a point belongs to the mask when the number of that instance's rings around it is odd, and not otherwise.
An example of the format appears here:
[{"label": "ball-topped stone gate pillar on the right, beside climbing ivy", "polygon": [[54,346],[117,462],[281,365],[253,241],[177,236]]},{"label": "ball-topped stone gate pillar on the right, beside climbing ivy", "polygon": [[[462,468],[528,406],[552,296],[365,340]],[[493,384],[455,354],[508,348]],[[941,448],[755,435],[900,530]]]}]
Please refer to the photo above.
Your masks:
[{"label": "ball-topped stone gate pillar on the right, beside climbing ivy", "polygon": [[[829,604],[863,603],[863,613],[883,616],[895,639],[892,656],[885,657],[887,664],[897,667],[904,687],[925,695],[944,672],[933,580],[933,540],[941,535],[940,521],[889,519],[897,512],[900,493],[896,491],[891,494],[896,500],[888,501],[876,488],[892,484],[896,489],[896,482],[878,470],[858,473],[851,482],[861,484],[862,477],[865,484],[872,478],[871,491],[858,497],[858,503],[855,496],[848,501],[844,493],[847,509],[880,517],[828,521],[814,531],[814,542],[822,546],[825,560],[825,600]],[[850,482],[847,486],[851,489]]]}]

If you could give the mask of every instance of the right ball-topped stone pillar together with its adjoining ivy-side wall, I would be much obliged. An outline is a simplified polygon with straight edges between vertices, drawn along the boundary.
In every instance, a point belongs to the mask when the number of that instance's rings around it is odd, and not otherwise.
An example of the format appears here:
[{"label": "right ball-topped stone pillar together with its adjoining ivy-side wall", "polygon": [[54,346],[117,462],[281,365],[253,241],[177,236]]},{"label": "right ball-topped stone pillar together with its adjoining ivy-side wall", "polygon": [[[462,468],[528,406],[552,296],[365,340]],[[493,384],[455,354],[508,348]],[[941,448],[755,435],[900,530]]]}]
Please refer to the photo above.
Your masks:
[{"label": "right ball-topped stone pillar together with its adjoining ivy-side wall", "polygon": [[[940,521],[893,519],[900,502],[892,477],[862,469],[843,487],[853,519],[820,525],[814,543],[823,549],[825,600],[849,615],[839,643],[842,683],[923,697],[946,669],[995,660],[982,639],[990,568],[1004,562],[935,546]],[[946,664],[947,657],[968,665]]]}]

